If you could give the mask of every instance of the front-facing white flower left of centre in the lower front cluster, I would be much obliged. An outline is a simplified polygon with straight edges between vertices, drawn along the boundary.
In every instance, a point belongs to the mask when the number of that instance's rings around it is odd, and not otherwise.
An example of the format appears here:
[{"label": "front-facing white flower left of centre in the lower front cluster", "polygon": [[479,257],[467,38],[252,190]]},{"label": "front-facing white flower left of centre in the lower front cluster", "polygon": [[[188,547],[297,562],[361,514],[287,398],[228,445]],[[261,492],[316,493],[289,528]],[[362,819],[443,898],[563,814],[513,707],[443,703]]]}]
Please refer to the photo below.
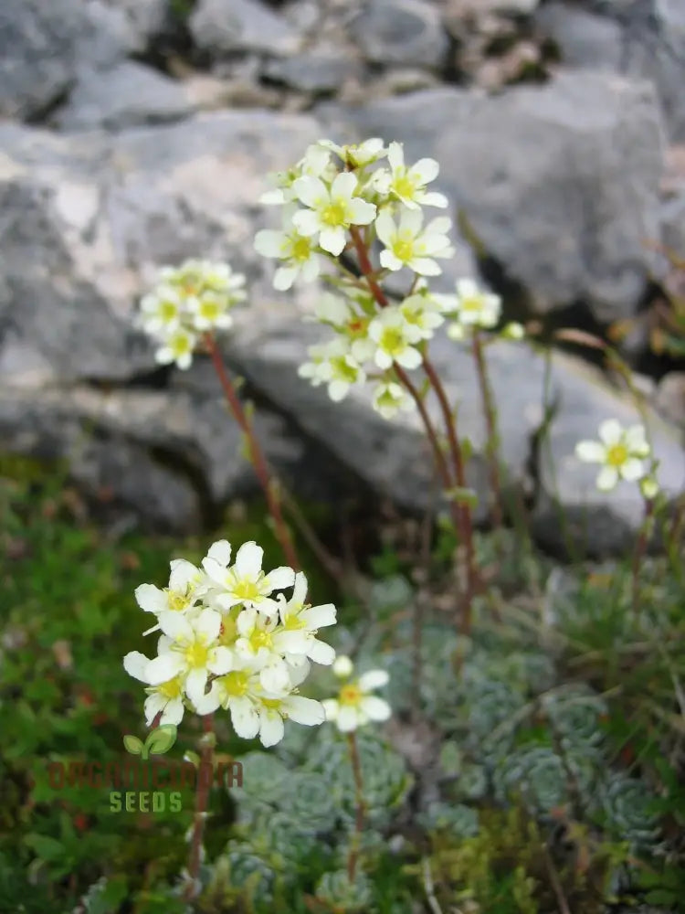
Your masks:
[{"label": "front-facing white flower left of centre in the lower front cluster", "polygon": [[160,628],[170,639],[145,670],[150,685],[161,685],[181,677],[185,694],[196,704],[205,694],[210,674],[227,673],[233,665],[233,653],[217,642],[221,614],[205,609],[196,617],[165,613]]}]

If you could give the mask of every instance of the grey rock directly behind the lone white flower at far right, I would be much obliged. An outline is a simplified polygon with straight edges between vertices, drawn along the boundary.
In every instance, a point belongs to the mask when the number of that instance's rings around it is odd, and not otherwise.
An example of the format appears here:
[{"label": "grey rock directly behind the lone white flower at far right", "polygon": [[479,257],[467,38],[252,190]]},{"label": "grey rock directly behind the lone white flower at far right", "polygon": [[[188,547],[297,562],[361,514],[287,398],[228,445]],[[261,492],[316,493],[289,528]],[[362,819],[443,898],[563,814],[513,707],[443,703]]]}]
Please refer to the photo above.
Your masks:
[{"label": "grey rock directly behind the lone white flower at far right", "polygon": [[[624,425],[642,418],[634,403],[609,387],[595,369],[556,355],[549,376],[553,420],[538,455],[539,491],[533,529],[546,547],[595,556],[626,554],[644,517],[638,485],[621,482],[614,492],[595,487],[598,467],[583,463],[575,445],[596,439],[599,424],[616,418]],[[685,488],[685,452],[679,431],[648,409],[648,430],[659,460],[661,490],[672,501]]]}]

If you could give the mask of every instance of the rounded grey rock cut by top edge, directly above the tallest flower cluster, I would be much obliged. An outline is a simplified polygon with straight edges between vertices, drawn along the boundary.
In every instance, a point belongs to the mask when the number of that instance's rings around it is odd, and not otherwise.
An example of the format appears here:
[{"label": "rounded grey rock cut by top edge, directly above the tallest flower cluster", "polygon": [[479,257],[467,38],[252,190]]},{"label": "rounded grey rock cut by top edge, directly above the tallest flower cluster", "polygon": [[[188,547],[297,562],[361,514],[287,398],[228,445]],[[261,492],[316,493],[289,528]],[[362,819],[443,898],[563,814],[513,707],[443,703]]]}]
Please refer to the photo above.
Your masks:
[{"label": "rounded grey rock cut by top edge, directly above the tallest flower cluster", "polygon": [[367,0],[350,31],[373,63],[441,69],[449,47],[439,11],[424,0]]}]

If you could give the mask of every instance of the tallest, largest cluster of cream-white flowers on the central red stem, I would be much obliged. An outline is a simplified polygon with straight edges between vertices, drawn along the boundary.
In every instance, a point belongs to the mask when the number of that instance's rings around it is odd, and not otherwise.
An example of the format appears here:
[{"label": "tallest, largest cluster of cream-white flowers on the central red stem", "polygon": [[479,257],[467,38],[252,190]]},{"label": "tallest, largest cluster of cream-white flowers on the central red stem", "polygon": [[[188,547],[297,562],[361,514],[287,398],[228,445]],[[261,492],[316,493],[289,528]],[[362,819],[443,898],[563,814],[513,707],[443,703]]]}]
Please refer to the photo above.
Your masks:
[{"label": "tallest, largest cluster of cream-white flowers on the central red stem", "polygon": [[[441,324],[451,320],[449,335],[464,338],[475,327],[492,330],[501,317],[500,299],[471,280],[459,281],[451,295],[428,288],[427,277],[440,274],[439,261],[454,253],[451,220],[424,214],[424,207],[448,206],[446,197],[429,188],[438,171],[434,159],[406,164],[401,143],[386,146],[374,137],[340,146],[321,140],[293,168],[272,175],[272,189],[261,197],[283,207],[282,228],[263,229],[255,238],[260,254],[279,261],[277,289],[315,280],[327,262],[339,274],[323,274],[337,292],[324,294],[314,313],[334,336],[310,347],[300,376],[325,384],[335,401],[356,385],[374,382],[372,403],[385,419],[414,408],[399,375],[421,365]],[[375,283],[396,271],[413,273],[397,303],[385,295],[379,301],[372,285],[339,261],[344,251],[355,250],[363,269],[360,251],[369,256],[376,241],[382,250]],[[520,338],[521,330],[509,325],[504,335]]]}]

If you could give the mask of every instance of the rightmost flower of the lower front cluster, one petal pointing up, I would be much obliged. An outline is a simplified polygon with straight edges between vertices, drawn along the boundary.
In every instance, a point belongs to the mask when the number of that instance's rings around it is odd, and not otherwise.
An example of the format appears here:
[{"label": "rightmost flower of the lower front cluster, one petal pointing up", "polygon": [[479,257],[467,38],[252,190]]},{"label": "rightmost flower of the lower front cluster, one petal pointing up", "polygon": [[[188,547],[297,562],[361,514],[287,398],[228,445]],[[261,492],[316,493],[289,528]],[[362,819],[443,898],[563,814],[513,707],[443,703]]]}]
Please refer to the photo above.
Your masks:
[{"label": "rightmost flower of the lower front cluster, one petal pointing up", "polygon": [[328,666],[335,660],[330,644],[316,637],[320,628],[335,624],[335,607],[332,603],[310,606],[307,597],[307,579],[301,571],[295,575],[295,586],[290,600],[279,599],[280,625],[274,646],[284,654],[304,654],[315,664]]}]

